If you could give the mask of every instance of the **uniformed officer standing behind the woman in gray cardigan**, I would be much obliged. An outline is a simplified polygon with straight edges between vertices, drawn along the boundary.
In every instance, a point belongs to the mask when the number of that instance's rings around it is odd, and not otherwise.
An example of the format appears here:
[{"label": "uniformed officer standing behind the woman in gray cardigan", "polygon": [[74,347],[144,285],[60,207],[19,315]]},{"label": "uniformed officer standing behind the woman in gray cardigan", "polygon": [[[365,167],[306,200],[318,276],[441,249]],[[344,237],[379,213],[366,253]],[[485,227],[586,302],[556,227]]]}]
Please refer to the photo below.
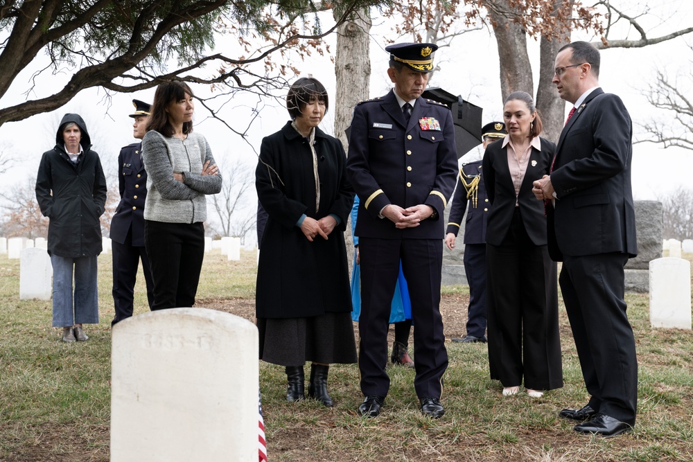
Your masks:
[{"label": "uniformed officer standing behind the woman in gray cardigan", "polygon": [[[132,100],[135,107],[132,136],[142,139],[146,133],[150,105]],[[142,143],[132,143],[118,155],[118,180],[121,202],[111,220],[113,249],[113,302],[116,315],[111,326],[132,316],[134,283],[137,267],[142,260],[142,272],[147,283],[149,307],[154,303],[154,281],[149,258],[144,248],[144,203],[147,198],[147,172],[141,156]]]}]

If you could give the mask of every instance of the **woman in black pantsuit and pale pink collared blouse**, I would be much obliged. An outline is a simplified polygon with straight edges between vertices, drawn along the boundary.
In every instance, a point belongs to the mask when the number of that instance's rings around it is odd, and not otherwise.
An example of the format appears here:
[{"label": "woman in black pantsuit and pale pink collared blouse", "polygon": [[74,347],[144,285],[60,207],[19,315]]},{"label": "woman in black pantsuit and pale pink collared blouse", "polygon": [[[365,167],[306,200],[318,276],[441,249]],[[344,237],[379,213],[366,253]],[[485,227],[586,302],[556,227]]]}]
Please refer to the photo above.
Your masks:
[{"label": "woman in black pantsuit and pale pink collared blouse", "polygon": [[549,257],[544,204],[532,182],[548,175],[556,145],[540,138],[532,96],[505,100],[508,135],[489,145],[482,171],[491,202],[486,227],[486,308],[491,378],[503,395],[525,382],[533,398],[563,387],[556,263]]}]

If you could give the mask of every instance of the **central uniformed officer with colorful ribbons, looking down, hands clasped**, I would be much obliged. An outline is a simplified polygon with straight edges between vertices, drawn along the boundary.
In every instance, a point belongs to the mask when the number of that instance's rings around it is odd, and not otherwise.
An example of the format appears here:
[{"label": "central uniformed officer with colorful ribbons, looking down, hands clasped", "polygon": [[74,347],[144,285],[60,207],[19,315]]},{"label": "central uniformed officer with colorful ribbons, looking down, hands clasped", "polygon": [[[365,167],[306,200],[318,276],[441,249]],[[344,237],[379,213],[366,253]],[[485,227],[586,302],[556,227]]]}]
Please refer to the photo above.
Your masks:
[{"label": "central uniformed officer with colorful ribbons, looking down, hands clasped", "polygon": [[421,98],[433,70],[435,44],[396,44],[387,75],[394,89],[354,109],[347,174],[361,198],[359,237],[361,313],[358,366],[365,400],[375,417],[389,389],[387,327],[402,262],[414,322],[414,388],[421,411],[439,418],[448,366],[440,315],[443,212],[457,174],[450,110]]}]

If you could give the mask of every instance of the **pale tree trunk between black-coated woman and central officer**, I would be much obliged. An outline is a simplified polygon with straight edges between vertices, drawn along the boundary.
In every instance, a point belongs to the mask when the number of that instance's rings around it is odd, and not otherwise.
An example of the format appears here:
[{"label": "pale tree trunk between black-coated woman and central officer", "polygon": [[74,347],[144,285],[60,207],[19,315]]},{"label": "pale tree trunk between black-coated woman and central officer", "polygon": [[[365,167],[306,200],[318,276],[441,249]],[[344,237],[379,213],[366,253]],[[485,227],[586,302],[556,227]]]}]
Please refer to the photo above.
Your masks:
[{"label": "pale tree trunk between black-coated woman and central officer", "polygon": [[[344,130],[351,124],[353,108],[369,97],[369,80],[371,78],[371,60],[369,53],[371,15],[369,10],[346,21],[337,29],[337,55],[335,57],[335,75],[337,89],[335,102],[335,136],[342,141],[344,150],[349,150],[349,140]],[[351,224],[347,224],[344,235],[347,241],[347,258],[349,270],[353,266],[353,240]]]}]

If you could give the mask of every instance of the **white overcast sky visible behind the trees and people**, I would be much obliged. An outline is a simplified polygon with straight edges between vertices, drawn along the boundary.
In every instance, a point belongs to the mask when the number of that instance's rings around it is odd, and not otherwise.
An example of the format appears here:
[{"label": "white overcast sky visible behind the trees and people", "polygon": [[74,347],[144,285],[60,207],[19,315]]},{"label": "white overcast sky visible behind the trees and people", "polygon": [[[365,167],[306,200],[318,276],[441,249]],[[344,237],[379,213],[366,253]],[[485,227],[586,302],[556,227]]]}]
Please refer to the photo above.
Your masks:
[{"label": "white overcast sky visible behind the trees and people", "polygon": [[[650,19],[645,24],[650,37],[693,24],[693,2],[690,0],[650,0],[649,3],[656,4],[651,8]],[[635,5],[630,8],[634,11]],[[384,51],[385,35],[392,37],[389,27],[383,19],[374,17],[374,26],[371,29],[371,97],[385,94],[391,86],[385,74],[388,58]],[[631,31],[629,38],[637,38],[634,31]],[[572,39],[593,40],[594,37],[585,33],[574,33]],[[329,40],[332,42],[331,50],[334,52],[335,37],[331,36]],[[530,42],[532,42],[531,39]],[[232,43],[232,40],[228,43],[218,41],[218,48],[228,52]],[[688,77],[680,80],[681,85],[685,83],[689,90],[693,89],[691,82],[693,52],[689,48],[690,45],[693,45],[693,34],[647,48],[630,50],[615,48],[602,51],[600,78],[602,87],[604,91],[618,94],[624,100],[636,125],[636,133],[639,130],[637,123],[644,122],[653,115],[653,109],[644,100],[642,89],[645,89],[648,82],[653,79],[656,68],[666,69],[672,76],[677,72],[686,72]],[[529,51],[534,63],[534,81],[536,82],[538,80],[536,77],[538,44],[532,42]],[[475,105],[483,107],[484,123],[500,120],[502,100],[498,76],[498,53],[495,38],[489,34],[488,30],[464,35],[458,39],[454,48],[441,48],[435,55],[435,61],[439,65],[439,71],[430,82],[431,86],[462,95]],[[334,94],[334,66],[327,57],[307,62],[303,69],[306,69],[306,75],[310,73],[321,80],[331,96]],[[24,95],[27,89],[26,82],[30,80],[30,77],[30,71],[21,73],[11,91],[0,100],[0,104],[7,106],[26,98]],[[58,85],[58,82],[63,82],[67,78],[68,75],[59,74],[38,80],[39,85],[31,94],[32,98],[50,94],[55,91],[55,85]],[[200,86],[193,87],[193,91],[198,94],[207,94],[208,89]],[[137,98],[151,101],[153,95],[152,89],[139,94],[120,94],[112,98],[104,98],[103,90],[91,89],[83,91],[71,103],[58,111],[40,114],[26,121],[6,123],[0,127],[0,144],[10,145],[11,151],[15,153],[19,162],[11,172],[1,178],[3,186],[0,188],[10,187],[19,181],[26,181],[26,177],[35,175],[42,152],[53,148],[55,130],[60,118],[67,112],[77,112],[85,118],[94,143],[94,150],[100,154],[105,170],[115,172],[120,148],[134,142],[132,119],[127,117],[132,111],[131,100]],[[227,106],[223,115],[233,125],[240,127],[251,116],[252,106],[254,106],[254,98],[246,100],[238,98],[238,104]],[[245,162],[252,165],[256,163],[255,150],[259,150],[262,137],[279,130],[288,118],[286,109],[283,107],[265,106],[261,117],[249,131],[246,143],[218,121],[207,120],[205,116],[204,109],[198,105],[195,130],[207,137],[218,160],[227,163]],[[327,114],[321,127],[326,132],[333,133],[331,112]],[[651,143],[635,145],[633,151],[635,199],[656,199],[671,193],[678,186],[690,185],[693,152],[676,149],[663,150]],[[252,202],[254,199],[250,200]]]}]

